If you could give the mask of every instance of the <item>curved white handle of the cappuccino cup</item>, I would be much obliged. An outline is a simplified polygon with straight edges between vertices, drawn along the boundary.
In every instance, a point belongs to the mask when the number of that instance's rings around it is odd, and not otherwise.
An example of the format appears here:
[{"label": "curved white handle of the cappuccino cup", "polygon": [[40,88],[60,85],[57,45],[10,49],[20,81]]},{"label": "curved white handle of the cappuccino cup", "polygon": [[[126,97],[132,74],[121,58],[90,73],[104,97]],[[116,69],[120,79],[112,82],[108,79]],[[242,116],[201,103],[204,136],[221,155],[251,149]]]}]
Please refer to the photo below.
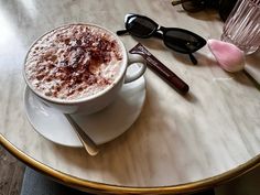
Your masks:
[{"label": "curved white handle of the cappuccino cup", "polygon": [[124,75],[124,84],[128,84],[130,82],[133,82],[138,78],[140,78],[145,69],[147,69],[147,65],[145,65],[145,61],[142,58],[142,56],[138,55],[138,54],[131,54],[129,57],[128,57],[128,68],[130,66],[132,66],[133,64],[140,64],[140,68],[139,71],[137,71],[136,73],[131,74],[131,75]]}]

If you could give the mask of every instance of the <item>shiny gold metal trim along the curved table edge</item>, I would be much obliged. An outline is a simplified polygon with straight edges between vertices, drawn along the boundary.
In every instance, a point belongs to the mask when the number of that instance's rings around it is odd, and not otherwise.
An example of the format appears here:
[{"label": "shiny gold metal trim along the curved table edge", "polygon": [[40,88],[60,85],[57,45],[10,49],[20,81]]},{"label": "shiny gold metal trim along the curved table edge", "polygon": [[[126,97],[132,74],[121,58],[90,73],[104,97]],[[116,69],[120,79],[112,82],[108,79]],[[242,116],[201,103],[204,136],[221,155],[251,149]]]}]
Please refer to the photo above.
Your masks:
[{"label": "shiny gold metal trim along the curved table edge", "polygon": [[260,165],[260,154],[256,155],[253,159],[247,161],[246,163],[219,175],[208,177],[205,180],[191,182],[186,184],[173,185],[173,186],[154,186],[154,187],[131,187],[131,186],[117,186],[105,183],[91,182],[87,180],[82,180],[66,173],[56,171],[30,155],[23,153],[17,147],[14,147],[8,139],[6,139],[0,133],[0,144],[6,148],[11,154],[17,159],[22,161],[28,166],[54,178],[55,181],[63,183],[67,186],[72,186],[78,189],[84,189],[85,192],[98,192],[102,194],[183,194],[183,193],[194,193],[202,189],[215,187],[224,182],[236,178],[250,170]]}]

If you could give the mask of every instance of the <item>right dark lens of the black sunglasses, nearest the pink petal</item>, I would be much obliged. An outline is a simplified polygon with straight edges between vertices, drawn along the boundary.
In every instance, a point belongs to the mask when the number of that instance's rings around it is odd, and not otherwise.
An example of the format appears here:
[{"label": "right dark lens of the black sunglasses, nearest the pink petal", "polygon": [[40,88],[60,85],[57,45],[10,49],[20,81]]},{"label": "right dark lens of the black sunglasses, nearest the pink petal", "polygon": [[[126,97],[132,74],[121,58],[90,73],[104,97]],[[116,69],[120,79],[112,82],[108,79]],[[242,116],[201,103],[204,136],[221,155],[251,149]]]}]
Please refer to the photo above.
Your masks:
[{"label": "right dark lens of the black sunglasses, nearest the pink petal", "polygon": [[169,30],[164,35],[164,44],[176,52],[191,54],[202,48],[206,41],[185,30]]}]

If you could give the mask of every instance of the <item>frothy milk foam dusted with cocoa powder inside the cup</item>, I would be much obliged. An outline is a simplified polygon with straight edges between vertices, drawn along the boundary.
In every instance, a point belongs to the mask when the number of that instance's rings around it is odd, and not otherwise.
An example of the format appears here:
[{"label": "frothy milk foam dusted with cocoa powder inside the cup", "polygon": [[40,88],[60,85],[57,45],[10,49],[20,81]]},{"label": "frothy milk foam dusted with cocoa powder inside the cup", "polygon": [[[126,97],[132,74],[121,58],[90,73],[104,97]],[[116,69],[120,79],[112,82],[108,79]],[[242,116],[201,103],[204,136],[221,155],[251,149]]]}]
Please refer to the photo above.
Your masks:
[{"label": "frothy milk foam dusted with cocoa powder inside the cup", "polygon": [[121,63],[122,51],[112,34],[75,24],[47,33],[32,46],[25,76],[47,97],[80,99],[112,85]]}]

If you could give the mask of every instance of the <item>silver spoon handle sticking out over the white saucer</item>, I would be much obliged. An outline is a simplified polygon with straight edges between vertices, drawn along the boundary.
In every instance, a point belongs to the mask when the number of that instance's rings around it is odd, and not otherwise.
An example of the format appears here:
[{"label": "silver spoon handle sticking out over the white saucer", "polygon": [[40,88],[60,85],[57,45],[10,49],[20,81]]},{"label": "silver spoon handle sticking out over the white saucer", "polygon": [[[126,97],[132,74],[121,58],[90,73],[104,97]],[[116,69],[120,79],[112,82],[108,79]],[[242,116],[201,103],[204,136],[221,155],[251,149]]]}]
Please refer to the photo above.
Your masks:
[{"label": "silver spoon handle sticking out over the white saucer", "polygon": [[78,136],[84,148],[90,155],[96,155],[99,152],[97,144],[83,131],[83,129],[74,121],[74,119],[68,113],[64,113],[68,122],[72,124],[74,131]]}]

